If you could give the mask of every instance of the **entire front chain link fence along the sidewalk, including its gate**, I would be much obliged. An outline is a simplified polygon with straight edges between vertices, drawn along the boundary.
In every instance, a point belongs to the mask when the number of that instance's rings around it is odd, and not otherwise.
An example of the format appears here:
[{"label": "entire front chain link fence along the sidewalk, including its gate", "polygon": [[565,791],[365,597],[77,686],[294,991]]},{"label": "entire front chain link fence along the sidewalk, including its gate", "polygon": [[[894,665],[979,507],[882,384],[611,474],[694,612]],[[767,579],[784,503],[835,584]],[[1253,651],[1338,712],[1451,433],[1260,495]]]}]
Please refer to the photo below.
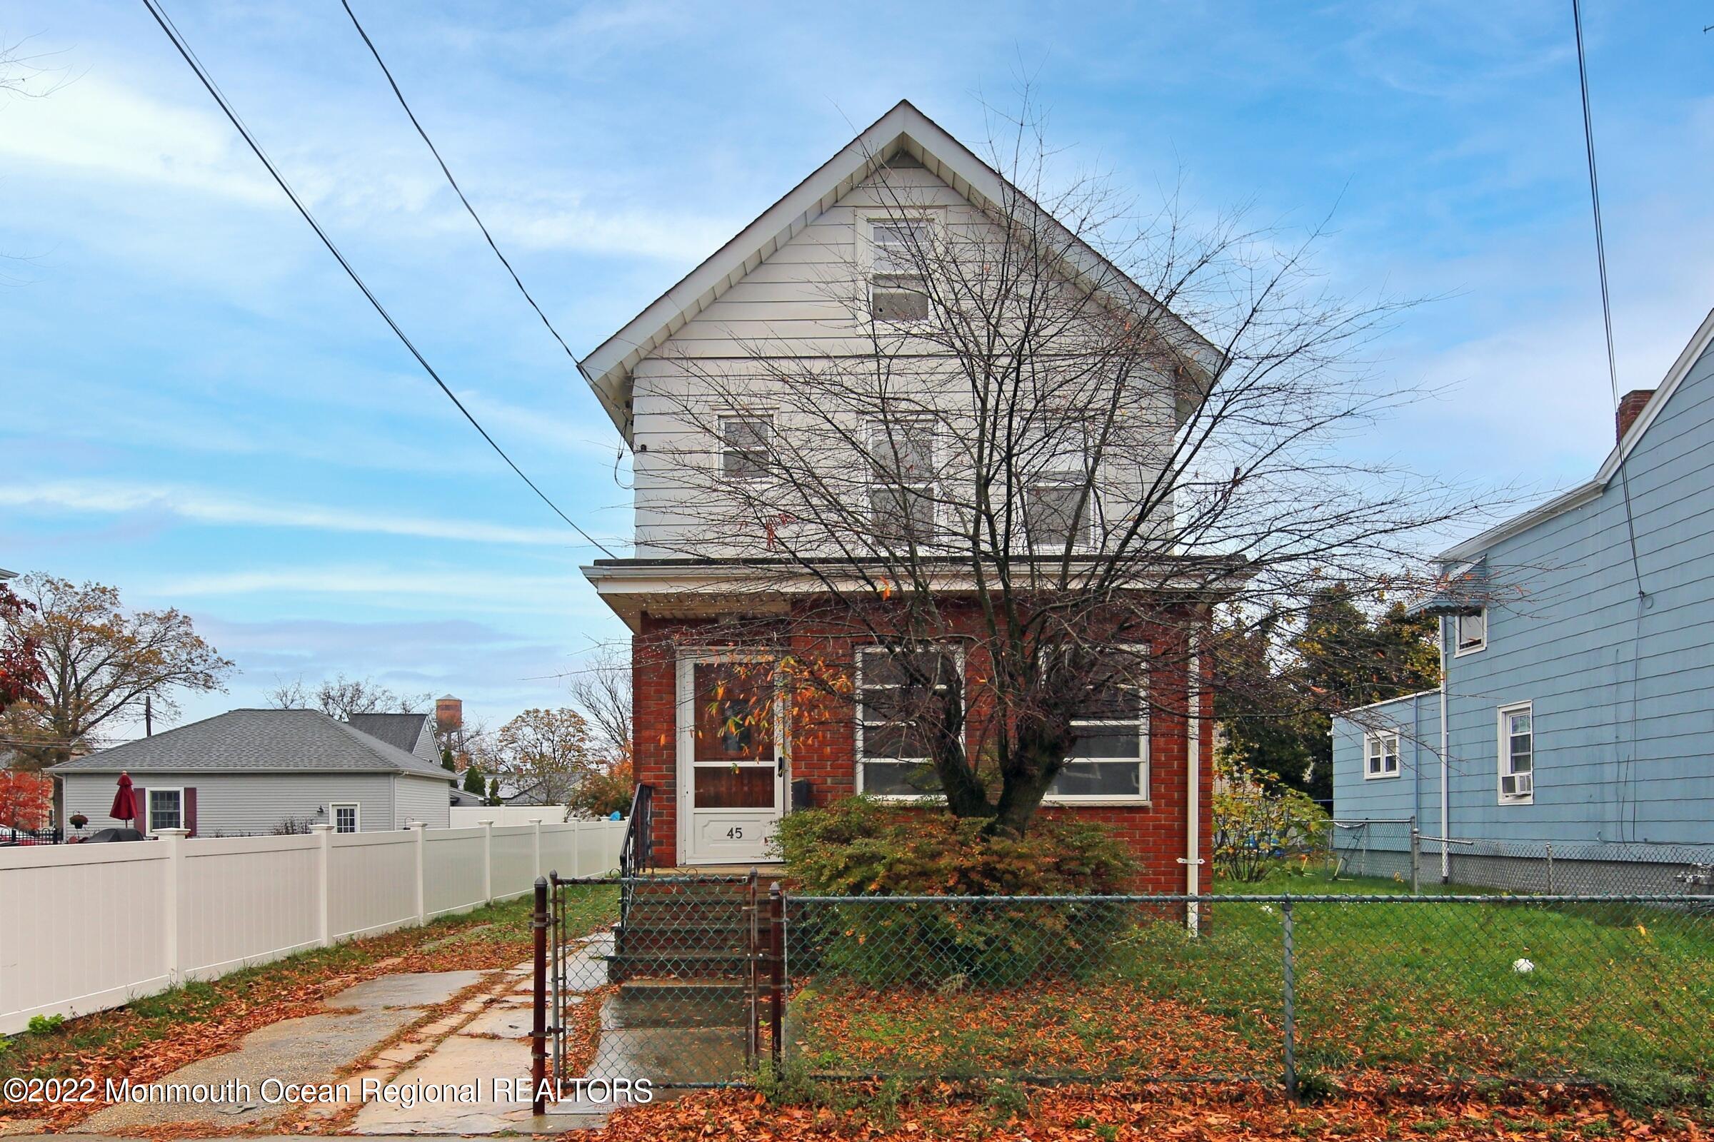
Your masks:
[{"label": "entire front chain link fence along the sidewalk, including its gate", "polygon": [[826,897],[651,877],[586,935],[564,925],[576,885],[542,890],[540,1060],[614,1097],[744,1085],[771,1058],[783,1080],[1512,1077],[1714,1101],[1714,897]]}]

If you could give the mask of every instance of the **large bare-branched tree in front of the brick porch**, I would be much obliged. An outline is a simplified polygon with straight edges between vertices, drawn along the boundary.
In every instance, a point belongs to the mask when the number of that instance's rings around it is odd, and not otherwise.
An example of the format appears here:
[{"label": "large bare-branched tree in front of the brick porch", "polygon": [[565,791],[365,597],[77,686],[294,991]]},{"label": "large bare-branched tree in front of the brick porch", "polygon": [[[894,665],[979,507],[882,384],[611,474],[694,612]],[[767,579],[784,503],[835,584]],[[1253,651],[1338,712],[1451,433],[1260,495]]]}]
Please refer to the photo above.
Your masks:
[{"label": "large bare-branched tree in front of the brick porch", "polygon": [[[1138,219],[1049,156],[1008,120],[999,176],[956,200],[908,151],[871,156],[842,204],[869,233],[795,329],[751,330],[737,360],[668,342],[672,377],[636,396],[677,423],[639,455],[651,543],[723,562],[704,608],[780,649],[794,733],[855,702],[898,758],[869,788],[938,789],[1004,834],[1056,781],[1130,791],[1104,724],[1205,716],[1210,608],[1397,592],[1471,507],[1349,447],[1414,396],[1361,360],[1400,301],[1320,288],[1316,233],[1282,245],[1176,200]],[[696,700],[698,733],[761,733],[771,709]]]}]

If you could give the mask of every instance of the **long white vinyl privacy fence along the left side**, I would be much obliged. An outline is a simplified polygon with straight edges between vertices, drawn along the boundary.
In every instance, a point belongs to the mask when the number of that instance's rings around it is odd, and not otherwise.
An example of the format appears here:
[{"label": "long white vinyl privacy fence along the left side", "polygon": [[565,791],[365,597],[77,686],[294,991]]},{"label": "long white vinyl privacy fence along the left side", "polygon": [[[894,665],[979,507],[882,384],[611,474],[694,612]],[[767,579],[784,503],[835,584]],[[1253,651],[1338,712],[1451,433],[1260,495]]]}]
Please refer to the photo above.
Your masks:
[{"label": "long white vinyl privacy fence along the left side", "polygon": [[0,1034],[619,866],[620,820],[0,849]]}]

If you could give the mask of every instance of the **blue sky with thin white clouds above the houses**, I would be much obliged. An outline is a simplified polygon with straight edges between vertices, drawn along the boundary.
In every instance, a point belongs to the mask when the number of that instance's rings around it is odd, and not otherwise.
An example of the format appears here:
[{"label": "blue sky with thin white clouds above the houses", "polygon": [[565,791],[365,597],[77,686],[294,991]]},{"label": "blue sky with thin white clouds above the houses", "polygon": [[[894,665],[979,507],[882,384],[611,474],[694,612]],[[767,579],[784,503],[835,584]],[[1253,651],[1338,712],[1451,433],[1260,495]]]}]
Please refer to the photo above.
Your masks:
[{"label": "blue sky with thin white clouds above the houses", "polygon": [[[543,488],[626,538],[617,437],[336,0],[166,10],[369,283]],[[1543,493],[1611,445],[1567,3],[353,0],[586,353],[910,98],[979,139],[1028,75],[1066,170],[1309,226],[1375,348],[1448,392],[1361,447]],[[1097,14],[1092,14],[1097,12]],[[1714,2],[1585,12],[1620,384],[1714,303]],[[593,555],[417,370],[141,3],[0,5],[63,82],[0,99],[0,567],[175,604],[242,673],[345,671],[497,724],[622,637]],[[624,467],[617,469],[624,478]]]}]

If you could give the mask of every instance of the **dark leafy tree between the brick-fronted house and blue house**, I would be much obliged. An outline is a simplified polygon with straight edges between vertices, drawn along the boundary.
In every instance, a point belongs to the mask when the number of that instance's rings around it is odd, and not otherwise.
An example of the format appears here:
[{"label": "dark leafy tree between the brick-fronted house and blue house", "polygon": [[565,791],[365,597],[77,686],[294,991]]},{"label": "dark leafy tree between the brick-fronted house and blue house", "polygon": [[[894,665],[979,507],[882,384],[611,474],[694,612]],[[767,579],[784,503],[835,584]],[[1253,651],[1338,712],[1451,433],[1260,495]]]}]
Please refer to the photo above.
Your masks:
[{"label": "dark leafy tree between the brick-fronted house and blue house", "polygon": [[1234,623],[1220,639],[1222,758],[1321,803],[1333,798],[1333,714],[1440,685],[1435,620],[1402,603],[1369,618],[1344,584],[1318,589],[1294,622]]}]

